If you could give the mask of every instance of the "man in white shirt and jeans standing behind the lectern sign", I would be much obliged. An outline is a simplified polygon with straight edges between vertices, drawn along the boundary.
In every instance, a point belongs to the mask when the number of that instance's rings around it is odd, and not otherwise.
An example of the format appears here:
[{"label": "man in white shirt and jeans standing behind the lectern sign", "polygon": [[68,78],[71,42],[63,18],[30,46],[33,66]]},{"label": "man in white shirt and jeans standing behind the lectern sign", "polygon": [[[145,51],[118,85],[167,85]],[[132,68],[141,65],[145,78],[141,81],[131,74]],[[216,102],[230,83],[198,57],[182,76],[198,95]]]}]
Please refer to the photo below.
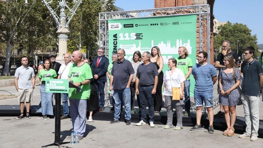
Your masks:
[{"label": "man in white shirt and jeans standing behind the lectern sign", "polygon": [[[64,55],[64,61],[65,64],[62,64],[59,68],[59,76],[58,79],[68,79],[68,73],[69,68],[72,65],[70,62],[70,54],[67,53]],[[61,100],[62,100],[62,106],[63,106],[63,115],[60,117],[60,119],[67,119],[68,118],[68,94],[61,93]]]}]

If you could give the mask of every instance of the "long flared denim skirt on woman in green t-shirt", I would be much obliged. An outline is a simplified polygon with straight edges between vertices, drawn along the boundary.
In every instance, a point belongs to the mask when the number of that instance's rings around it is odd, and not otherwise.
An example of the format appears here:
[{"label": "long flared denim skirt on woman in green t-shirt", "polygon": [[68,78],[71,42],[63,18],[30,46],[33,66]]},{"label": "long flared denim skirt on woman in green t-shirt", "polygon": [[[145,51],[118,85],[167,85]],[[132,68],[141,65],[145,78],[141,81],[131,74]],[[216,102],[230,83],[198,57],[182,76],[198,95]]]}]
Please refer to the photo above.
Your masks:
[{"label": "long flared denim skirt on woman in green t-shirt", "polygon": [[45,85],[40,84],[40,103],[37,106],[36,113],[41,112],[43,116],[54,115],[53,113],[53,93],[45,92]]}]

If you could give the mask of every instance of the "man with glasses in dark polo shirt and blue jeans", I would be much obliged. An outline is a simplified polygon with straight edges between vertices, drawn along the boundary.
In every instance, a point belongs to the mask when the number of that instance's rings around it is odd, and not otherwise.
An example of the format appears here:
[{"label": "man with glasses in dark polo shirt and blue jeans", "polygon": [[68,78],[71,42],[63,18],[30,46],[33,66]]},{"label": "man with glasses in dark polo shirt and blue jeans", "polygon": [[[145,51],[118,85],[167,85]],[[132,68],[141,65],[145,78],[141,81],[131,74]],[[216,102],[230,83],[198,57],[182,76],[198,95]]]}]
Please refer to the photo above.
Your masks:
[{"label": "man with glasses in dark polo shirt and blue jeans", "polygon": [[[131,89],[130,84],[132,82],[134,69],[132,63],[124,59],[125,51],[119,48],[117,51],[118,60],[114,62],[111,69],[111,78],[109,90],[113,91],[115,100],[114,104],[114,119],[111,123],[120,122],[120,108],[121,102],[124,102],[125,106],[125,120],[126,125],[131,124]],[[112,87],[113,86],[113,87]]]}]

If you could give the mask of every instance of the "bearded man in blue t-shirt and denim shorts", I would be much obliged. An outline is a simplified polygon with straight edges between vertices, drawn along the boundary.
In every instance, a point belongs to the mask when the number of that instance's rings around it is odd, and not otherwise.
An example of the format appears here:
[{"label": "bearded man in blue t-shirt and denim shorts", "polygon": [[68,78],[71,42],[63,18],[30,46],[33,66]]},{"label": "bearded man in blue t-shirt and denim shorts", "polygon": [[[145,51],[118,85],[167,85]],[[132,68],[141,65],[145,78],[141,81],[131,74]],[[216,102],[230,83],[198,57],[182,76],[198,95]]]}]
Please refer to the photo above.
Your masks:
[{"label": "bearded man in blue t-shirt and denim shorts", "polygon": [[217,80],[215,67],[206,62],[207,53],[204,51],[198,54],[198,64],[193,67],[192,75],[195,78],[194,98],[196,106],[196,125],[190,130],[200,130],[203,102],[207,108],[209,129],[208,133],[214,133],[213,120],[213,85]]}]

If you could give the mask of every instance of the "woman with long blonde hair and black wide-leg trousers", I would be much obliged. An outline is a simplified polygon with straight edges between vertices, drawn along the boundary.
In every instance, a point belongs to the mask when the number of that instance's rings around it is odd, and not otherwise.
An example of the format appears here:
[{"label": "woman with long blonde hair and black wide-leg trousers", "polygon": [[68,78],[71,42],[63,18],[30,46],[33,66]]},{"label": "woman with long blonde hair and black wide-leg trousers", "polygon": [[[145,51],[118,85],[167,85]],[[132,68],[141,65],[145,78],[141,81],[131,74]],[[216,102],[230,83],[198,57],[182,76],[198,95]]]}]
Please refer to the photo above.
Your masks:
[{"label": "woman with long blonde hair and black wide-leg trousers", "polygon": [[154,98],[154,108],[155,115],[158,115],[162,109],[163,99],[162,99],[162,86],[163,86],[163,57],[158,46],[153,46],[151,50],[150,61],[154,63],[158,69],[158,84],[156,88],[156,94]]}]

